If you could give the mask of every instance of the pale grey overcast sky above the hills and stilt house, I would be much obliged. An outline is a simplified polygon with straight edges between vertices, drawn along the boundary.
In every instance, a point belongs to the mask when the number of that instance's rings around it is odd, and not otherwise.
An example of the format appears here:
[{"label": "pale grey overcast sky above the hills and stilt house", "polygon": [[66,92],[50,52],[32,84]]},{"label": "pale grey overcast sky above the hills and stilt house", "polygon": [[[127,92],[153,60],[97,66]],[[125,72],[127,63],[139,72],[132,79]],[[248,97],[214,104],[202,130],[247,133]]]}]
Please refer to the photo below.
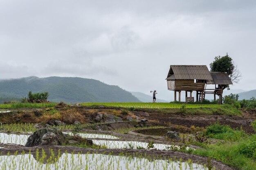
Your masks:
[{"label": "pale grey overcast sky above the hills and stilt house", "polygon": [[77,76],[173,98],[170,65],[229,56],[256,89],[255,0],[0,0],[0,78]]}]

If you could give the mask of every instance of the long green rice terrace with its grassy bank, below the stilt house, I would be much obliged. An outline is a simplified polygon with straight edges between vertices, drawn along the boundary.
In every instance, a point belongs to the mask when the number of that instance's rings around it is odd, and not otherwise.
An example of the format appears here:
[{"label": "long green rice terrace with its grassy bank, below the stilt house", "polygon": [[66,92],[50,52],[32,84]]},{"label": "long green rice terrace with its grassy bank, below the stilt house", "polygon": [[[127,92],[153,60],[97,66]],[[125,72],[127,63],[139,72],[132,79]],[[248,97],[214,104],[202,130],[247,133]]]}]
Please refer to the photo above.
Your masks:
[{"label": "long green rice terrace with its grassy bank, below the stilt house", "polygon": [[103,105],[106,108],[126,108],[129,111],[140,111],[147,113],[161,114],[182,114],[182,115],[227,115],[241,116],[242,112],[232,105],[216,104],[180,104],[180,103],[143,103],[143,102],[101,102],[81,103],[81,106],[99,108]]}]

